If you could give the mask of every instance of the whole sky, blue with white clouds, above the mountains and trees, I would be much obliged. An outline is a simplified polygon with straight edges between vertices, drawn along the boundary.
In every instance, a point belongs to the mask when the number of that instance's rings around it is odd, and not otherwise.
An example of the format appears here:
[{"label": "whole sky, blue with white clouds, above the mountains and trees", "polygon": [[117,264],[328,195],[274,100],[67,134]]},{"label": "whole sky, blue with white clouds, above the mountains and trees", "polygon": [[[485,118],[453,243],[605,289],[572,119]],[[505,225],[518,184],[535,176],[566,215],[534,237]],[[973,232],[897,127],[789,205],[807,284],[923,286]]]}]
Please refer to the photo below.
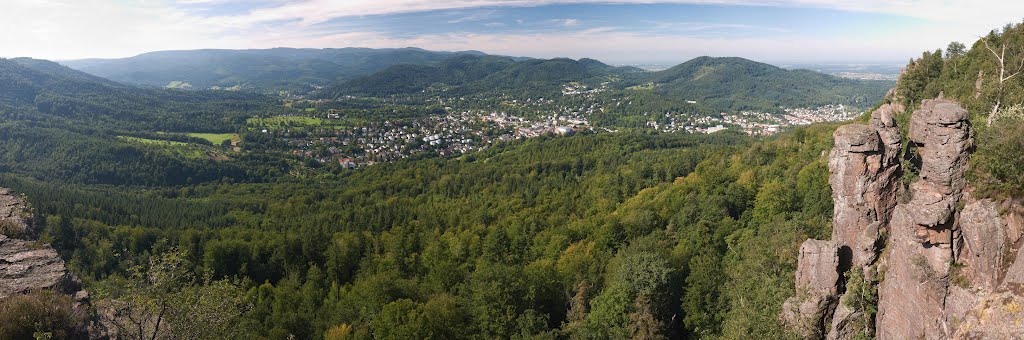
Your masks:
[{"label": "whole sky, blue with white clouds, above the mountains and trees", "polygon": [[1022,19],[1014,0],[3,0],[0,56],[420,47],[616,65],[884,63]]}]

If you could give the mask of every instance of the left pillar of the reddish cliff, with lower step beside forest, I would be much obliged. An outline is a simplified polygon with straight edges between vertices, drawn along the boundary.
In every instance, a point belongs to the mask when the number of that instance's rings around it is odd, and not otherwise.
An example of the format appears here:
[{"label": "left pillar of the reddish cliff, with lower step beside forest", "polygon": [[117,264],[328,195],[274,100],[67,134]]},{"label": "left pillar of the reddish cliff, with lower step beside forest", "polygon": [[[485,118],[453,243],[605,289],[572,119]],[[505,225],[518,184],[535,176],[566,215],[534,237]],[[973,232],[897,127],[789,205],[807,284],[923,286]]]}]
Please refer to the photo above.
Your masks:
[{"label": "left pillar of the reddish cliff, with lower step beside forest", "polygon": [[881,237],[896,205],[900,135],[895,114],[902,111],[885,104],[871,114],[868,125],[845,125],[833,135],[831,241],[808,240],[801,246],[797,295],[785,302],[781,315],[805,338],[848,338],[854,334],[848,326],[863,317],[840,303],[843,274],[855,267],[868,280],[874,278]]}]

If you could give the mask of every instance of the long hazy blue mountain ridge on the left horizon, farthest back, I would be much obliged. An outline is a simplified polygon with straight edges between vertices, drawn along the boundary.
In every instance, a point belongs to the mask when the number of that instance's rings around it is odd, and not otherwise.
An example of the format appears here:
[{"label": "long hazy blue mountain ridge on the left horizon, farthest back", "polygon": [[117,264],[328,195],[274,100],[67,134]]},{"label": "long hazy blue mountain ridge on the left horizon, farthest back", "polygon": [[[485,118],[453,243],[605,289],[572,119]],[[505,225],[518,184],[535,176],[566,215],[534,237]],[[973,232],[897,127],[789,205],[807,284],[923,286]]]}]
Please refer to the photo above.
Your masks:
[{"label": "long hazy blue mountain ridge on the left horizon, farthest back", "polygon": [[259,92],[304,92],[311,89],[310,85],[333,84],[398,63],[433,65],[457,54],[483,53],[437,52],[419,48],[203,49],[61,62],[126,84],[164,87],[177,82],[175,86],[194,89],[239,86]]}]

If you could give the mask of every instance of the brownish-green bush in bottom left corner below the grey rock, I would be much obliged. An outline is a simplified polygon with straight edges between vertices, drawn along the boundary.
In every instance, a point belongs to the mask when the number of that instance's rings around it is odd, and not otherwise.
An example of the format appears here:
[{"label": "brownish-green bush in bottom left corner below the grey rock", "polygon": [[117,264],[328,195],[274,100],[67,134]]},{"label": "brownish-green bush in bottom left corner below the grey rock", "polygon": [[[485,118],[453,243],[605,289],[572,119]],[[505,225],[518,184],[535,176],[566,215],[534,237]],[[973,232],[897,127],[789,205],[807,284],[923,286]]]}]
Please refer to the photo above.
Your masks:
[{"label": "brownish-green bush in bottom left corner below the grey rock", "polygon": [[87,339],[86,314],[70,297],[51,291],[13,295],[0,300],[0,339]]}]

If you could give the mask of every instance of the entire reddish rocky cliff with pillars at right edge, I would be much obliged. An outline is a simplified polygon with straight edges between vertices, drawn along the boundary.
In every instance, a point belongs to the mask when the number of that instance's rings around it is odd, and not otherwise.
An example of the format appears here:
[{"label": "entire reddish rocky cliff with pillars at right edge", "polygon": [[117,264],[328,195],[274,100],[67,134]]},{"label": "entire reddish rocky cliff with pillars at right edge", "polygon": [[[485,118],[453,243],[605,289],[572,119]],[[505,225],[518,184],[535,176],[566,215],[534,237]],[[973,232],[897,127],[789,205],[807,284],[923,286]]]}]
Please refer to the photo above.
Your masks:
[{"label": "entire reddish rocky cliff with pillars at right edge", "polygon": [[[1024,209],[972,197],[966,110],[925,100],[910,115],[906,144],[894,119],[903,111],[886,104],[868,124],[835,132],[831,240],[802,245],[782,322],[805,338],[1024,337]],[[903,172],[916,176],[900,193],[900,178],[913,177]],[[857,322],[869,308],[845,298],[862,287],[878,290],[867,323]]]}]

